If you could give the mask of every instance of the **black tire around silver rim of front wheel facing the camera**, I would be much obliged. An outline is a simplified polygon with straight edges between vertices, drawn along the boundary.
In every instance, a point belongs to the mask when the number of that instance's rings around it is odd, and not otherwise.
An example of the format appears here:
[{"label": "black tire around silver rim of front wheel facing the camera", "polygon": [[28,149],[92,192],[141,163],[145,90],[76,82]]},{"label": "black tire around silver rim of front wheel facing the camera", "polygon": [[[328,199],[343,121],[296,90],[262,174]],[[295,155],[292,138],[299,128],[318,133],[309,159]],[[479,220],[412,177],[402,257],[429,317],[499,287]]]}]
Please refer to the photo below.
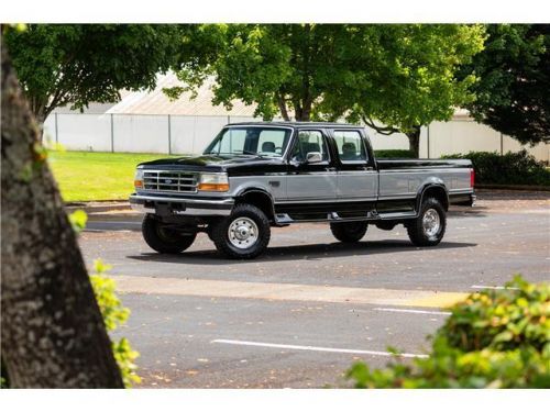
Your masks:
[{"label": "black tire around silver rim of front wheel facing the camera", "polygon": [[[239,248],[233,245],[229,238],[230,226],[237,222],[239,218],[252,220],[257,226],[255,236],[257,240],[250,247]],[[221,219],[212,223],[210,229],[211,238],[218,252],[231,259],[253,259],[262,254],[271,238],[270,220],[258,208],[252,204],[241,203],[233,208],[233,211],[228,218]],[[233,240],[233,242],[235,242]]]}]

